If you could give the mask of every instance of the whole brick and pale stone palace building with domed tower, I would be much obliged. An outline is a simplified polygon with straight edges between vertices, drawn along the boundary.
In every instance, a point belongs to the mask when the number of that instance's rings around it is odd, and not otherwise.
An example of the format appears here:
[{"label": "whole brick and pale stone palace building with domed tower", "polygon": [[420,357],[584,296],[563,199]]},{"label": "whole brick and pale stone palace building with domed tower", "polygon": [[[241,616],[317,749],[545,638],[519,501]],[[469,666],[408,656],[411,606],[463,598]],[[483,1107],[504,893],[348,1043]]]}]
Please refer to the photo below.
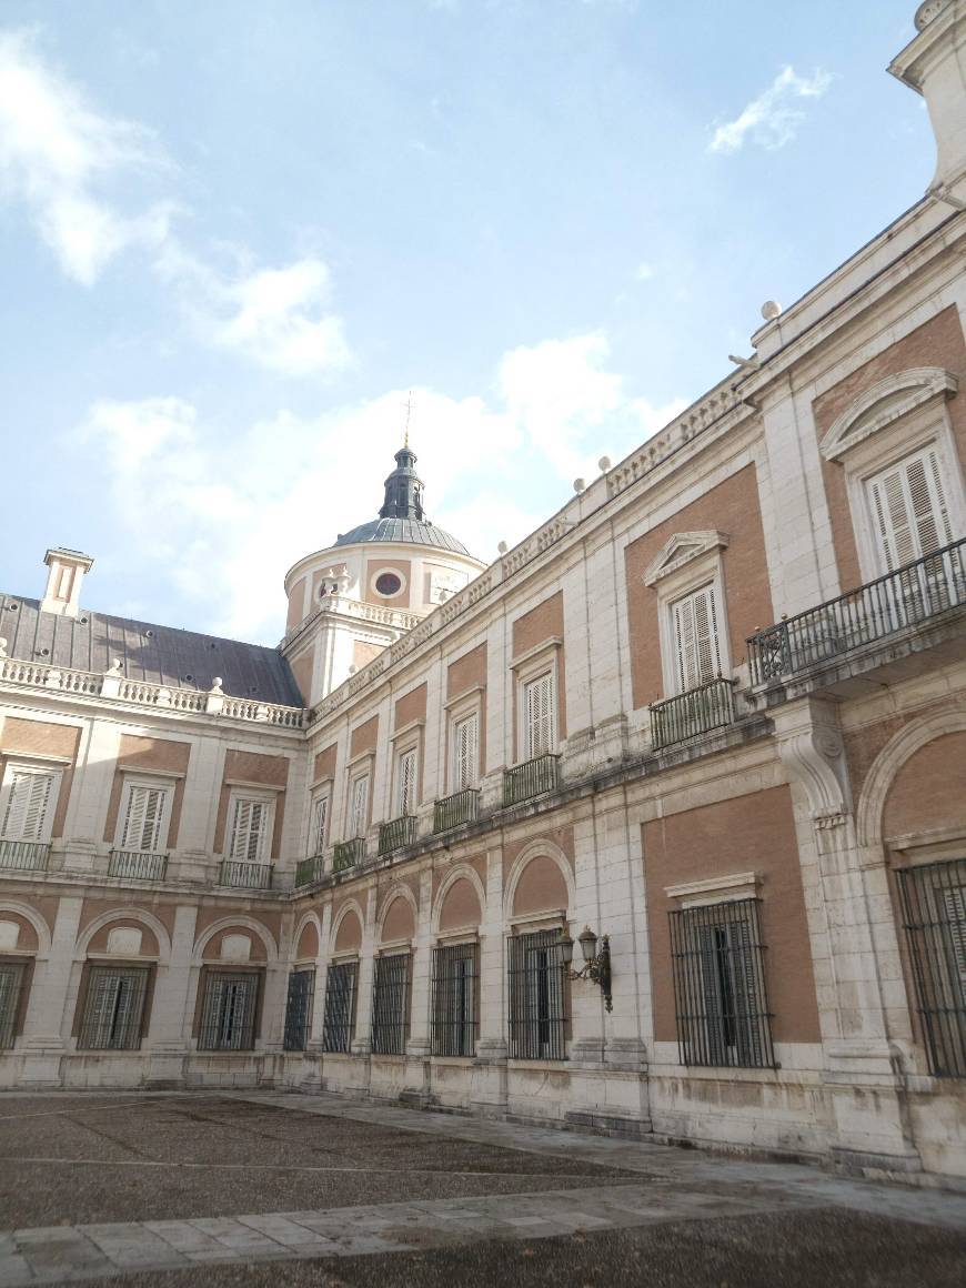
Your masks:
[{"label": "whole brick and pale stone palace building with domed tower", "polygon": [[277,649],[73,550],[0,594],[0,1086],[966,1175],[966,0],[916,27],[926,194],[495,563],[407,443]]}]

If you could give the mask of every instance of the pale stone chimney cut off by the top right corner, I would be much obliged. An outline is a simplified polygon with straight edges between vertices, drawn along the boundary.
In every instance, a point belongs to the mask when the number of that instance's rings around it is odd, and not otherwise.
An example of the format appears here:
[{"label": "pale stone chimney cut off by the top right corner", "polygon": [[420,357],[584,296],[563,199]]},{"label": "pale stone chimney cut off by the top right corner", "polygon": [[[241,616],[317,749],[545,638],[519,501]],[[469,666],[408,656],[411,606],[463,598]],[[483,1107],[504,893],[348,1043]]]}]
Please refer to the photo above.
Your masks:
[{"label": "pale stone chimney cut off by the top right corner", "polygon": [[929,192],[966,210],[966,0],[926,0],[914,22],[889,71],[929,108],[939,153]]}]

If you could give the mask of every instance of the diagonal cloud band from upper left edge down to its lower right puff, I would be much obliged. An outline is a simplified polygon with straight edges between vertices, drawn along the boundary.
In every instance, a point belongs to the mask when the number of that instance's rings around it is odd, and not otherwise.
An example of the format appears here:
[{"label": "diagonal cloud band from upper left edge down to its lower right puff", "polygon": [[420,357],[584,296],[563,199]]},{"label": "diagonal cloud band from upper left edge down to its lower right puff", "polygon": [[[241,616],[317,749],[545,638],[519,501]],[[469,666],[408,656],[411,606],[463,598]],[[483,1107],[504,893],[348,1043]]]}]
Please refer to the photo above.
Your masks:
[{"label": "diagonal cloud band from upper left edge down to its lower right puff", "polygon": [[170,170],[155,137],[98,112],[41,57],[32,32],[0,32],[0,198],[30,211],[68,277],[91,286],[121,251],[140,247],[205,343],[283,376],[345,367],[322,260],[220,274],[174,236],[171,200],[129,209],[126,189],[140,175]]}]

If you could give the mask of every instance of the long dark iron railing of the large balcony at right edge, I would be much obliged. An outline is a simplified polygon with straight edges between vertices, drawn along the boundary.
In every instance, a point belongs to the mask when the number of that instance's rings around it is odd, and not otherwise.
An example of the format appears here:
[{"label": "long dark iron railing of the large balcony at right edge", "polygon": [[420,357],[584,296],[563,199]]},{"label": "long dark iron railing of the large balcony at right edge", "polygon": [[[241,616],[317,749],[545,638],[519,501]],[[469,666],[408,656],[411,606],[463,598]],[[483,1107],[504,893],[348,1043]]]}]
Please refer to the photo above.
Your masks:
[{"label": "long dark iron railing of the large balcony at right edge", "polygon": [[966,605],[966,538],[748,640],[751,683],[769,684]]}]

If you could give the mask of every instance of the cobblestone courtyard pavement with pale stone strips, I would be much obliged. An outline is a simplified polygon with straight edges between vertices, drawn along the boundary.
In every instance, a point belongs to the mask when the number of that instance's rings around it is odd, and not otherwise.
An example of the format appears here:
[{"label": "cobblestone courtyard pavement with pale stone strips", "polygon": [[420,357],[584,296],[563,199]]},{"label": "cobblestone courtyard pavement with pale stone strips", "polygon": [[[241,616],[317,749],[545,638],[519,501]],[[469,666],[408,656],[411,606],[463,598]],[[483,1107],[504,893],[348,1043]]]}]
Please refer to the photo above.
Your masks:
[{"label": "cobblestone courtyard pavement with pale stone strips", "polygon": [[335,1096],[0,1096],[0,1288],[966,1282],[966,1198]]}]

